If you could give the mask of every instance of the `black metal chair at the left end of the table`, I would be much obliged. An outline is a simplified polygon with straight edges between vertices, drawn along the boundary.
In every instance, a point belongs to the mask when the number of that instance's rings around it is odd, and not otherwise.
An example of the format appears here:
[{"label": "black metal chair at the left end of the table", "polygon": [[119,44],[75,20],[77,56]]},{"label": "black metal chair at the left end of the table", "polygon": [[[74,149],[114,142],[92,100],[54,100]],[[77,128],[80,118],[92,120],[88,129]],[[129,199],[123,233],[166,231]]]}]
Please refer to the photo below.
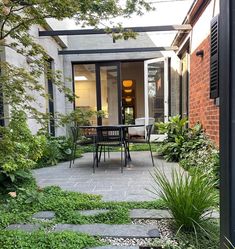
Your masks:
[{"label": "black metal chair at the left end of the table", "polygon": [[[69,162],[69,168],[72,167],[76,158],[76,150],[78,146],[85,146],[85,145],[94,145],[94,140],[96,136],[96,132],[91,129],[81,129],[79,125],[75,125],[71,127],[71,134],[72,134],[72,150],[71,150],[71,157]],[[94,147],[93,147],[93,155],[94,155]]]}]

